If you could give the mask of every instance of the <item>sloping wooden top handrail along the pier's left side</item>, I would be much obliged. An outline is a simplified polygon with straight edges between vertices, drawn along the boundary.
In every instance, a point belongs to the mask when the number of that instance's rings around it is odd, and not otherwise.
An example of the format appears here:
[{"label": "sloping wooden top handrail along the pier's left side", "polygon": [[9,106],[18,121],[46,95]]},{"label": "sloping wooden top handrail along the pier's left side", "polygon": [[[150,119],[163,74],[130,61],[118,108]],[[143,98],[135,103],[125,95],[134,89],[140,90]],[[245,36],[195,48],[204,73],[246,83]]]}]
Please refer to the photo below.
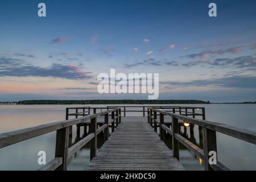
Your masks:
[{"label": "sloping wooden top handrail along the pier's left side", "polygon": [[52,131],[64,129],[65,127],[77,125],[77,124],[83,123],[84,121],[88,121],[92,118],[96,118],[100,115],[112,113],[113,111],[116,111],[118,109],[119,107],[115,107],[115,109],[102,111],[96,114],[89,114],[80,118],[68,119],[68,120],[59,121],[59,122],[52,122],[44,125],[28,127],[26,129],[10,131],[8,133],[2,133],[0,134],[0,148],[7,147],[12,144],[19,143],[34,137],[38,137],[40,135],[51,133]]}]

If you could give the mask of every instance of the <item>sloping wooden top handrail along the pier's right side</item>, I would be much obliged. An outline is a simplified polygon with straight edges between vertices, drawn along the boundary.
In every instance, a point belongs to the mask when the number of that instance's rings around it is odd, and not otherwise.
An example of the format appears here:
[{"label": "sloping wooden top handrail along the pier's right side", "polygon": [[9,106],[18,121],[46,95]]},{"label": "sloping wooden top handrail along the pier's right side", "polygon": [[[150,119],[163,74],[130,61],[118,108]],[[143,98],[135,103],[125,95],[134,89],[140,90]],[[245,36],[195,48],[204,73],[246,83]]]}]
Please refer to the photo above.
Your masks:
[{"label": "sloping wooden top handrail along the pier's right side", "polygon": [[164,114],[164,115],[169,115],[173,118],[180,119],[185,122],[192,123],[194,125],[198,125],[198,126],[210,129],[210,130],[217,131],[222,134],[229,135],[230,137],[234,137],[234,138],[241,139],[241,140],[244,140],[249,143],[256,144],[256,131],[255,130],[242,129],[240,127],[229,126],[229,125],[222,124],[222,123],[205,121],[203,119],[197,119],[197,118],[191,118],[191,117],[187,117],[185,115],[169,113],[167,111],[155,109],[152,107],[150,107],[148,109],[151,109],[152,111],[156,111],[156,112]]}]

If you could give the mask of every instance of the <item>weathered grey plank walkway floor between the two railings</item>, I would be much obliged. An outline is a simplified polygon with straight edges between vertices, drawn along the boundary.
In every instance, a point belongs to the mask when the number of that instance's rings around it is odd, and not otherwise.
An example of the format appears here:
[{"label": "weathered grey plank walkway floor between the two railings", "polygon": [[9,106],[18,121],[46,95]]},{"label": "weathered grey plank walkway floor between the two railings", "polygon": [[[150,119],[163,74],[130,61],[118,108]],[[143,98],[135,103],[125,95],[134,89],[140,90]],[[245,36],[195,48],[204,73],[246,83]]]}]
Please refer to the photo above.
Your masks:
[{"label": "weathered grey plank walkway floor between the two railings", "polygon": [[184,170],[145,117],[122,117],[86,170]]}]

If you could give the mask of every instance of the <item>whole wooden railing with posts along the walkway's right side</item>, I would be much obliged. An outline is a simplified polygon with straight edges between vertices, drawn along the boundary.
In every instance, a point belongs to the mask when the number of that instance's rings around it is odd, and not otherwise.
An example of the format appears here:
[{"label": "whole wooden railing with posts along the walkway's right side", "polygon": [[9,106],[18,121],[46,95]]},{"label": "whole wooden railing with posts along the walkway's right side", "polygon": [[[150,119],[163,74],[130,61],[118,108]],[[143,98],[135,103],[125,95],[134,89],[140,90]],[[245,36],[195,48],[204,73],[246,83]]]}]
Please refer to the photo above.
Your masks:
[{"label": "whole wooden railing with posts along the walkway's right side", "polygon": [[[176,114],[175,109],[170,112],[166,111],[165,109],[150,107],[147,110],[147,115],[148,123],[154,127],[156,132],[157,127],[159,127],[159,135],[163,141],[165,140],[165,133],[168,133],[172,136],[172,151],[175,158],[179,160],[179,143],[181,143],[197,157],[203,159],[205,170],[229,170],[219,161],[217,161],[217,164],[209,164],[209,152],[215,151],[217,155],[216,132],[256,144],[256,131],[240,129],[238,127],[233,127],[222,123],[205,121],[205,117],[203,119],[197,119],[194,115],[193,117],[188,117],[188,115],[181,115],[180,112],[179,114]],[[171,117],[171,128],[165,124],[164,116]],[[190,125],[190,127],[193,127],[193,125],[198,125],[199,129],[203,128],[203,149],[196,146],[196,144],[192,143],[180,134],[179,121],[184,123],[184,127],[185,125]]]}]

